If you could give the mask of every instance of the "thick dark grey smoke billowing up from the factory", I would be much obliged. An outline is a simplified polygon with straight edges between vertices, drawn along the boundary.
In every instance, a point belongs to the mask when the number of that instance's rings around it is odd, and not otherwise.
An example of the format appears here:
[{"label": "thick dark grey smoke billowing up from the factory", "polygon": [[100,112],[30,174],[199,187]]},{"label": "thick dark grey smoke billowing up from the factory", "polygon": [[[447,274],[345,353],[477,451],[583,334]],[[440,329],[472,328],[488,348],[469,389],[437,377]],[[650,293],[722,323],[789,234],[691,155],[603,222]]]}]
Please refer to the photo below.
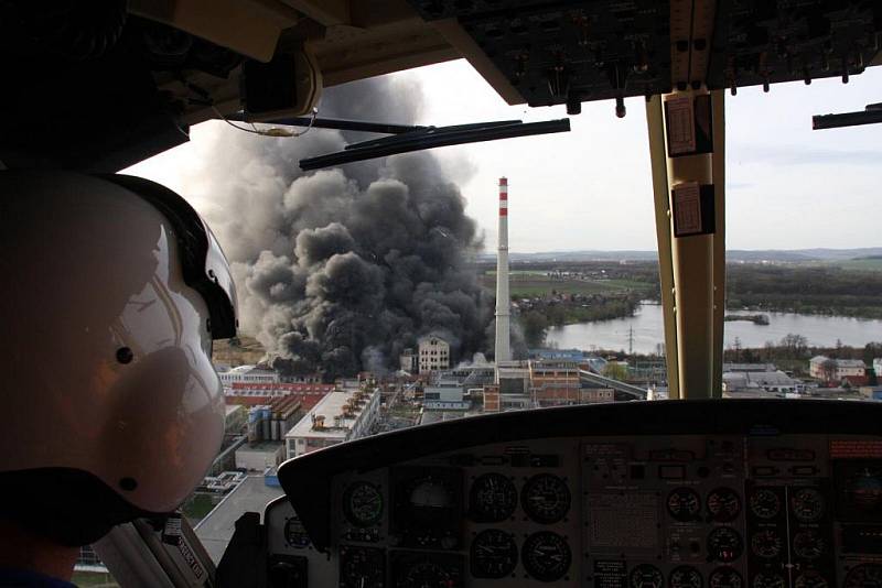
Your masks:
[{"label": "thick dark grey smoke billowing up from the factory", "polygon": [[[375,78],[326,90],[321,113],[408,123],[420,104],[415,83]],[[325,379],[394,368],[423,335],[449,341],[454,361],[485,350],[492,295],[466,266],[481,236],[454,184],[471,166],[453,178],[416,153],[300,172],[353,139],[218,134],[195,204],[234,262],[243,330],[280,369]]]}]

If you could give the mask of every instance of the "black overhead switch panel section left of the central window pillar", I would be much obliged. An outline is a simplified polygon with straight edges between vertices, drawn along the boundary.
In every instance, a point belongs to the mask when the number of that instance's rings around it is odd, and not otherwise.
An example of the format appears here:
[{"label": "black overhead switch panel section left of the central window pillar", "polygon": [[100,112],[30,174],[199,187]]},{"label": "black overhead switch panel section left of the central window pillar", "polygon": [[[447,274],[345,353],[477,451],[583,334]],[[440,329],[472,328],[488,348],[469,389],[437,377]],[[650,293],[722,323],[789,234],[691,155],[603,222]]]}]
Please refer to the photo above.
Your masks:
[{"label": "black overhead switch panel section left of the central window pillar", "polygon": [[667,1],[412,3],[427,20],[455,15],[530,106],[670,90]]}]

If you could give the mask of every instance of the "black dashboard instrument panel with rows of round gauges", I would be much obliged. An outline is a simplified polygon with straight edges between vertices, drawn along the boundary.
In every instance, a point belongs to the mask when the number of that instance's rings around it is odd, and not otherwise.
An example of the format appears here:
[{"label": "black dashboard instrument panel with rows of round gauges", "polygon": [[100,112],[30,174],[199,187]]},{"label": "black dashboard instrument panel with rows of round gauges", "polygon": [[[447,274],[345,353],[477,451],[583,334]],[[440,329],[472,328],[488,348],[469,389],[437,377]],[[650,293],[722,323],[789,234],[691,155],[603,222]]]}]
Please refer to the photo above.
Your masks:
[{"label": "black dashboard instrument panel with rows of round gauges", "polygon": [[[466,421],[487,427],[497,417]],[[316,487],[327,492],[300,509],[310,513],[302,521],[287,499],[267,508],[270,568],[306,570],[271,586],[882,586],[882,436],[860,426],[499,438],[514,436],[503,431],[494,443],[454,436],[462,446],[442,450],[432,446],[451,444],[454,431],[421,428],[434,432],[384,437],[423,440],[424,455],[397,461],[366,439],[353,449],[383,466],[362,458],[348,467],[326,451],[311,472],[299,470],[323,476]],[[402,447],[418,453],[412,443]],[[283,471],[298,461],[280,470],[289,496],[298,482]],[[294,505],[310,483],[301,479]]]}]

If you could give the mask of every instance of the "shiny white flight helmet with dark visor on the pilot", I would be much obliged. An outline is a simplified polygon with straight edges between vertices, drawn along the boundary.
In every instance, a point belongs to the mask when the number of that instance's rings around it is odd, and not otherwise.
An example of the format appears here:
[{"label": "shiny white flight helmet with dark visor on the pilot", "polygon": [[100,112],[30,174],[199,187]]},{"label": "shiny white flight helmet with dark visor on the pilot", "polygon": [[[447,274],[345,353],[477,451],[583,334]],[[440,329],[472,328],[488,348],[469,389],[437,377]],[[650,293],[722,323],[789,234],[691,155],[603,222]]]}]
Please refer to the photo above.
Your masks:
[{"label": "shiny white flight helmet with dark visor on the pilot", "polygon": [[0,172],[0,519],[68,545],[174,510],[224,435],[229,268],[173,192]]}]

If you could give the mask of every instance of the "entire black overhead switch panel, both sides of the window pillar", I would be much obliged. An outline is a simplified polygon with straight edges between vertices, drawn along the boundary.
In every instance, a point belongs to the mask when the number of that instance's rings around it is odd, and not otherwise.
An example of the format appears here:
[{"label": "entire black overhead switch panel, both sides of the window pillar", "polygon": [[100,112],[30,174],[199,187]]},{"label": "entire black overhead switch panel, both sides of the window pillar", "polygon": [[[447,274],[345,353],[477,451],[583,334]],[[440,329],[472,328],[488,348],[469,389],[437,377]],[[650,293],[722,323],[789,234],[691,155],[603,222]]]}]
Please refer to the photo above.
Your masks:
[{"label": "entire black overhead switch panel, both sides of the window pillar", "polygon": [[[882,53],[882,2],[675,0],[716,18],[671,33],[667,0],[408,0],[429,22],[455,20],[530,106],[645,96],[702,79],[710,89],[860,74]],[[678,28],[679,30],[680,28]],[[684,55],[685,54],[685,55]],[[703,73],[703,68],[700,69]]]}]

